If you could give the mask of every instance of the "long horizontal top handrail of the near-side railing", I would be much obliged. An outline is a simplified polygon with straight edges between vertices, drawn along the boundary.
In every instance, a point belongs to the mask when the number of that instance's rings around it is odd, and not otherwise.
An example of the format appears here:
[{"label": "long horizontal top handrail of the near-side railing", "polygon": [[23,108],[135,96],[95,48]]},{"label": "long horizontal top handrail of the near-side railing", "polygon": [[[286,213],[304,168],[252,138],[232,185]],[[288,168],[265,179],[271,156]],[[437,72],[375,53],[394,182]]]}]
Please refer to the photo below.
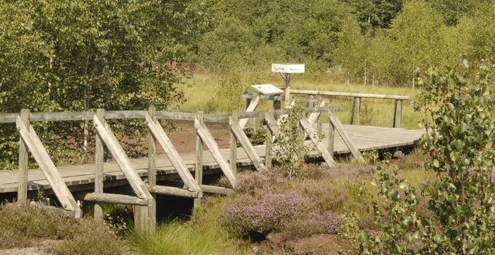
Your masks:
[{"label": "long horizontal top handrail of the near-side railing", "polygon": [[[328,108],[308,107],[306,113],[323,113]],[[287,114],[291,109],[279,109],[274,111],[276,115]],[[117,119],[144,119],[146,111],[105,111],[106,120]],[[239,113],[238,118],[257,118],[264,116],[264,111]],[[16,118],[21,113],[0,113],[0,123],[16,123]],[[93,120],[95,112],[54,112],[54,113],[30,113],[30,121],[73,121],[73,120]],[[229,114],[205,114],[205,122],[228,122]],[[180,113],[168,111],[156,111],[156,118],[161,120],[194,120],[196,113]]]}]

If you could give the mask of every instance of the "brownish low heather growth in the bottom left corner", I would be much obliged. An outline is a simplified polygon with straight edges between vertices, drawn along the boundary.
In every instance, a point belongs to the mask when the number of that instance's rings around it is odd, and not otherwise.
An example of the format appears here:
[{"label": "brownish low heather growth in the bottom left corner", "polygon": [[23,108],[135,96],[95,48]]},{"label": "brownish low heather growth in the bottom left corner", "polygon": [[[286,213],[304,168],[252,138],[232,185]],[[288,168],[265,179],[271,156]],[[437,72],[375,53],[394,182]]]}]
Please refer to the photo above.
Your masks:
[{"label": "brownish low heather growth in the bottom left corner", "polygon": [[0,249],[33,246],[39,239],[64,240],[53,248],[60,255],[125,254],[122,242],[100,222],[59,217],[38,204],[0,206]]}]

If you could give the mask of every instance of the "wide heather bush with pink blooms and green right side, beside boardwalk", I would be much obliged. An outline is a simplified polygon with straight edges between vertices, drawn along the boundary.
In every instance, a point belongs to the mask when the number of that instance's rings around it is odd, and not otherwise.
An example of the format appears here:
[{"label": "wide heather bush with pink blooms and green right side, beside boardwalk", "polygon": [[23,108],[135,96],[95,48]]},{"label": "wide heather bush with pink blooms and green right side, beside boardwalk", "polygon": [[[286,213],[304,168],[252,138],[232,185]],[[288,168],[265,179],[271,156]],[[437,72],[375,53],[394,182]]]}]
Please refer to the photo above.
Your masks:
[{"label": "wide heather bush with pink blooms and green right side, beside boardwalk", "polygon": [[287,179],[284,171],[277,168],[240,174],[236,193],[223,205],[223,222],[228,231],[238,237],[254,238],[264,238],[269,232],[284,232],[289,237],[336,233],[339,212],[327,206],[327,199],[334,198],[334,190],[322,169],[303,169],[310,171],[314,173],[296,179]]}]

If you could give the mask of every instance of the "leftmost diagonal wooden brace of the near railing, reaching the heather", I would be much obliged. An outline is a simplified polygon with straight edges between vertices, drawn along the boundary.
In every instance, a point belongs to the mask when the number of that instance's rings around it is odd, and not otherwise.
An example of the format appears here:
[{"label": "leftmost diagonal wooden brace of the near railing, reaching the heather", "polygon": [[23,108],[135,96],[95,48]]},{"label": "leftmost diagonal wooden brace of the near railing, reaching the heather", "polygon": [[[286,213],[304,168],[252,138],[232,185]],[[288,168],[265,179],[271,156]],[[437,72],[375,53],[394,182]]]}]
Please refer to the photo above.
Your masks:
[{"label": "leftmost diagonal wooden brace of the near railing, reaching the heather", "polygon": [[60,176],[59,172],[57,171],[57,167],[55,167],[45,147],[43,147],[40,138],[37,137],[33,126],[29,125],[28,130],[28,127],[24,125],[21,116],[18,116],[16,120],[16,126],[19,130],[19,133],[21,134],[23,141],[25,142],[25,145],[27,145],[31,154],[33,154],[33,157],[35,158],[37,164],[40,166],[40,169],[45,175],[48,183],[50,183],[52,190],[57,196],[59,202],[62,204],[64,210],[72,210],[74,211],[74,217],[81,217],[81,209],[77,207],[76,200],[74,200],[74,197],[69,191],[69,188],[67,188],[67,186],[65,185],[62,176]]}]

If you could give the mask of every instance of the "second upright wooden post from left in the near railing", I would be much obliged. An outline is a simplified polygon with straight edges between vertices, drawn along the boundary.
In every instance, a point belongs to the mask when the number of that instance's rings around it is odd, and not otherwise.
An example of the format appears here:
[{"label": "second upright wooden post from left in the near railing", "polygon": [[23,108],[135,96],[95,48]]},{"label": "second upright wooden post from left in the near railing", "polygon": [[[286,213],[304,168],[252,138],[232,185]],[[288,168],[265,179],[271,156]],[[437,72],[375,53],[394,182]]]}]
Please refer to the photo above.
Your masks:
[{"label": "second upright wooden post from left in the near railing", "polygon": [[[96,116],[103,122],[103,118],[105,118],[105,110],[97,109]],[[103,150],[103,142],[101,141],[100,136],[97,132],[95,132],[95,194],[103,193],[103,162],[105,162],[105,152]],[[95,208],[93,212],[93,216],[95,220],[102,221],[103,220],[103,208],[101,203],[95,203]]]}]

